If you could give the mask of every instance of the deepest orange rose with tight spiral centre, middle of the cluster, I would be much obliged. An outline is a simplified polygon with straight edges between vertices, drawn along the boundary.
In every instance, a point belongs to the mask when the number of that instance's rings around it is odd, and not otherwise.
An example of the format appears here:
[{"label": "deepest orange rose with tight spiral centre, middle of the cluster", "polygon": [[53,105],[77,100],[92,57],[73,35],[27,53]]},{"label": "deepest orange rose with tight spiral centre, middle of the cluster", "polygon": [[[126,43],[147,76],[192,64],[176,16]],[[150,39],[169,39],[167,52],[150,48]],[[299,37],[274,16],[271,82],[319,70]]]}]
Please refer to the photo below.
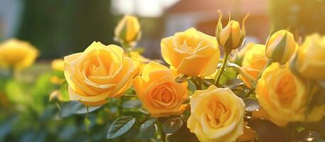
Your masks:
[{"label": "deepest orange rose with tight spiral centre, middle of the cluster", "polygon": [[157,62],[145,65],[141,76],[133,81],[136,94],[151,116],[179,115],[184,111],[182,103],[187,100],[187,82],[175,82],[175,76],[167,67]]}]

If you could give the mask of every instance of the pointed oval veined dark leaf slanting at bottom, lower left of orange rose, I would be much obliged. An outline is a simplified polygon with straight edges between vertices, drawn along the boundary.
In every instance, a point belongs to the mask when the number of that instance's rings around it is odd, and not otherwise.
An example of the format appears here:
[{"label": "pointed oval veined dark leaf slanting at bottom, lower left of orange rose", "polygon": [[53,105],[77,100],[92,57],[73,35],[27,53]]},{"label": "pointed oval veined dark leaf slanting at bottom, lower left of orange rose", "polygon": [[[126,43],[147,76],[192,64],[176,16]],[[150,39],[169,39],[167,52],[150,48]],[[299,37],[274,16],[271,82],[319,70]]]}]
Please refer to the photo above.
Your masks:
[{"label": "pointed oval veined dark leaf slanting at bottom, lower left of orange rose", "polygon": [[133,116],[122,116],[116,119],[111,126],[109,126],[109,131],[107,132],[106,138],[112,139],[122,136],[136,123],[136,119]]}]

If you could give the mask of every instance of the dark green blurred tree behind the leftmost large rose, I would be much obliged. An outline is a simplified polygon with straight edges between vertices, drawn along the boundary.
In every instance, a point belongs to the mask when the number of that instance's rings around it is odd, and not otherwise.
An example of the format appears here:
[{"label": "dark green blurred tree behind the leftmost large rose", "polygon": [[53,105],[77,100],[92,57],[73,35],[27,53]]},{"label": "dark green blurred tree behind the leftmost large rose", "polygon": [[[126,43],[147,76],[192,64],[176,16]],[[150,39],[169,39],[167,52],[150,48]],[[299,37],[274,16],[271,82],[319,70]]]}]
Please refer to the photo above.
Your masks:
[{"label": "dark green blurred tree behind the leftmost large rose", "polygon": [[41,58],[84,50],[94,40],[113,42],[116,18],[108,0],[25,0],[17,38],[28,40]]}]

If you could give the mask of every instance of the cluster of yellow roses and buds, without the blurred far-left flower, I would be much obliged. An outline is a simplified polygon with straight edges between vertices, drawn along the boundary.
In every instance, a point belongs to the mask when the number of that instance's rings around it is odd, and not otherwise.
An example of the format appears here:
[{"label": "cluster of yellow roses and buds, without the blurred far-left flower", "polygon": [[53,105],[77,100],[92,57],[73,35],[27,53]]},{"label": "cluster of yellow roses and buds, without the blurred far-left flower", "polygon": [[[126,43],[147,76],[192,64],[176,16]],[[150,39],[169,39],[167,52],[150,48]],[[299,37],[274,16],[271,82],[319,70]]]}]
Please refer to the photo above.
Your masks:
[{"label": "cluster of yellow roses and buds, without the blurred far-left flower", "polygon": [[[141,102],[144,115],[182,121],[199,141],[252,141],[258,138],[249,127],[252,119],[286,126],[324,116],[325,104],[314,102],[324,96],[325,38],[320,35],[299,45],[290,31],[281,30],[265,45],[248,43],[234,55],[245,26],[229,20],[223,28],[219,20],[216,37],[189,28],[163,38],[165,66],[134,50],[141,35],[136,17],[125,16],[115,34],[122,47],[94,42],[65,57],[71,100],[100,106],[126,94]],[[230,56],[241,58],[241,66],[229,63]],[[235,77],[229,78],[231,70]],[[126,93],[133,89],[136,95]],[[258,107],[251,109],[246,100]],[[112,124],[109,133],[113,130]]]}]

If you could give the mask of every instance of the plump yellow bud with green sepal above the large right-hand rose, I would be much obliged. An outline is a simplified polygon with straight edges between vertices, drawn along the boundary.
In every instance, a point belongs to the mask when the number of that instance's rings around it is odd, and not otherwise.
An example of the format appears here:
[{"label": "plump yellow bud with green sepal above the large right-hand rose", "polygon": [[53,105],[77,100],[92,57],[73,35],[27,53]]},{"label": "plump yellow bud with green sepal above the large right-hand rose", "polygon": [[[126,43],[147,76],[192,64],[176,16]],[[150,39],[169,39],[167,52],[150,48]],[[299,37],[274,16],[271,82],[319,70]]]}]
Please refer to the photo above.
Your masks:
[{"label": "plump yellow bud with green sepal above the large right-hand rose", "polygon": [[271,35],[266,43],[266,57],[280,64],[285,64],[290,60],[298,44],[294,41],[292,33],[280,30]]}]

